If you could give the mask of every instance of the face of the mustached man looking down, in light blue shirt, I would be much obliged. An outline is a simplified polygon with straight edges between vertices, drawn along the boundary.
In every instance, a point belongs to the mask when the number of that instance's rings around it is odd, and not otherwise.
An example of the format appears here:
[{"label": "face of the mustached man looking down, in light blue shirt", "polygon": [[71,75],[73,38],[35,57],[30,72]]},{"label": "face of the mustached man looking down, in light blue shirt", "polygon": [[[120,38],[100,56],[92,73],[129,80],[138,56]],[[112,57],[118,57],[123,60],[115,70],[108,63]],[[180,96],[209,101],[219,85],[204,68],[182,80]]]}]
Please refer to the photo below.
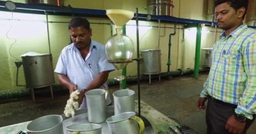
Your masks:
[{"label": "face of the mustached man looking down, in light blue shirt", "polygon": [[88,30],[85,27],[71,27],[69,29],[72,42],[78,49],[90,46],[90,39],[92,36],[92,29]]}]

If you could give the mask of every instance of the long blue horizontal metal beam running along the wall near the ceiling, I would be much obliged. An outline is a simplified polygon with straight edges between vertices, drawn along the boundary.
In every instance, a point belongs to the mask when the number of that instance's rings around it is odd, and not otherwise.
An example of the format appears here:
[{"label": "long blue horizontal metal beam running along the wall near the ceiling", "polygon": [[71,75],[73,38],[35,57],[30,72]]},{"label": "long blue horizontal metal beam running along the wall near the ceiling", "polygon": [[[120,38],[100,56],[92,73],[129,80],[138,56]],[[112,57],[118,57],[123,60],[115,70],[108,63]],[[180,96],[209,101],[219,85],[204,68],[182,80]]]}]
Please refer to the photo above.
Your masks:
[{"label": "long blue horizontal metal beam running along the wall near the ceiling", "polygon": [[[25,4],[15,3],[16,9],[13,12],[18,13],[34,13],[34,14],[48,14],[48,15],[68,15],[68,16],[86,16],[86,17],[103,17],[106,16],[105,10],[99,9],[82,9],[67,7],[58,7],[54,5],[40,5],[40,4]],[[0,11],[9,11],[5,8],[5,1],[0,1]],[[212,21],[202,21],[196,19],[184,19],[179,17],[172,17],[166,15],[151,15],[151,19],[147,19],[148,14],[138,13],[139,21],[161,21],[161,22],[175,22],[175,23],[204,23],[205,25],[213,25]],[[133,20],[136,18],[133,17]],[[215,24],[214,24],[215,25]]]}]

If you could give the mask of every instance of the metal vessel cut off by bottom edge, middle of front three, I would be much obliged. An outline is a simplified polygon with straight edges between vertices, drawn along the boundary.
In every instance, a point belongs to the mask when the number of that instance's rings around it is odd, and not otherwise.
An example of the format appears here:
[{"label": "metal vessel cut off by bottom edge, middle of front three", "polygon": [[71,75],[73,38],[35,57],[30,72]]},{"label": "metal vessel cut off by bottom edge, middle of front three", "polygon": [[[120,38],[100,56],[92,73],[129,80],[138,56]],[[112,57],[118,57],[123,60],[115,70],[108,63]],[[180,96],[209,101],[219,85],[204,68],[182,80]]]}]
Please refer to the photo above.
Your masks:
[{"label": "metal vessel cut off by bottom edge, middle of front three", "polygon": [[102,126],[99,124],[85,123],[75,124],[66,127],[67,134],[79,133],[79,134],[101,134]]}]

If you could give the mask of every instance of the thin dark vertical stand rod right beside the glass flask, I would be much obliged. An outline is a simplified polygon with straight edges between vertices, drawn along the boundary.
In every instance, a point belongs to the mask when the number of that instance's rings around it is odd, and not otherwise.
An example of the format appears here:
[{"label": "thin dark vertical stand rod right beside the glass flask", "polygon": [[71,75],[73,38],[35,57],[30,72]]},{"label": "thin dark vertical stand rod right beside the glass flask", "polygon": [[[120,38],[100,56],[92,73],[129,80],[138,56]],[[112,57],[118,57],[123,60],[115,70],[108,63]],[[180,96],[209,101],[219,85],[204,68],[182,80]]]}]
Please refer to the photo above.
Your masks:
[{"label": "thin dark vertical stand rod right beside the glass flask", "polygon": [[140,74],[139,74],[139,18],[138,18],[138,8],[136,8],[136,35],[137,35],[137,86],[138,86],[138,111],[140,117]]}]

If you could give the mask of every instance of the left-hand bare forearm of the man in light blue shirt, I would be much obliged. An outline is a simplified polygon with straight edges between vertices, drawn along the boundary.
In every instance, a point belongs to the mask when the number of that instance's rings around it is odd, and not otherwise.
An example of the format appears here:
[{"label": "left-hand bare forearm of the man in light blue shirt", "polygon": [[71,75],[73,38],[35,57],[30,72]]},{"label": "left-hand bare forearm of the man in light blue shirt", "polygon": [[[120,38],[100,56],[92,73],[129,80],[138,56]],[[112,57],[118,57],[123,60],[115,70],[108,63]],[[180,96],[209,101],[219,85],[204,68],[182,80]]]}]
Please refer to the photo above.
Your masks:
[{"label": "left-hand bare forearm of the man in light blue shirt", "polygon": [[59,83],[69,89],[69,93],[77,90],[77,85],[70,82],[65,74],[58,74]]}]

